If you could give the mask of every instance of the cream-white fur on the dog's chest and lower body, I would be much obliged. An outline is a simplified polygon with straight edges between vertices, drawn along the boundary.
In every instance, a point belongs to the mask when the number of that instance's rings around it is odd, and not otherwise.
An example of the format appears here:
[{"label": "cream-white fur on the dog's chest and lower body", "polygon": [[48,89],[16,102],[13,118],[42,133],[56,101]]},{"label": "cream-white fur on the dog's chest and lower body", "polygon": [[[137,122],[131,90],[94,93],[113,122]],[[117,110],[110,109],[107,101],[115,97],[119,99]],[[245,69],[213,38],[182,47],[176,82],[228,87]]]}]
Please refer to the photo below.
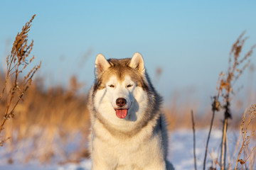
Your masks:
[{"label": "cream-white fur on the dog's chest and lower body", "polygon": [[[97,126],[95,133],[104,134],[104,136],[102,136],[102,140],[94,139],[93,145],[97,147],[94,147],[92,155],[92,159],[95,160],[93,162],[93,169],[115,169],[120,164],[123,164],[124,167],[120,166],[119,169],[127,170],[166,169],[164,157],[161,150],[159,150],[161,144],[159,143],[158,135],[147,141],[146,145],[142,145],[142,141],[146,140],[149,136],[148,132],[143,131],[137,137],[120,142],[113,138],[110,132],[98,121],[95,122],[95,126]],[[149,146],[151,147],[149,148]]]}]

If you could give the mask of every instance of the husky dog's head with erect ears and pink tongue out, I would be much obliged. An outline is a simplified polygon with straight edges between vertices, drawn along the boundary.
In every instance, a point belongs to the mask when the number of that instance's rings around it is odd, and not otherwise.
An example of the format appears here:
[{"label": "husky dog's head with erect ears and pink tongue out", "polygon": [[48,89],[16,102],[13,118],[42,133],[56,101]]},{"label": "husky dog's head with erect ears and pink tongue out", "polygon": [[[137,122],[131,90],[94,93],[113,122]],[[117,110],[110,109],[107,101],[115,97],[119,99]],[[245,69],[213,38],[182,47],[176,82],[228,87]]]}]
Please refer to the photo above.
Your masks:
[{"label": "husky dog's head with erect ears and pink tongue out", "polygon": [[97,113],[114,124],[139,119],[150,89],[142,55],[136,52],[132,58],[122,60],[97,55],[95,77],[93,103]]}]

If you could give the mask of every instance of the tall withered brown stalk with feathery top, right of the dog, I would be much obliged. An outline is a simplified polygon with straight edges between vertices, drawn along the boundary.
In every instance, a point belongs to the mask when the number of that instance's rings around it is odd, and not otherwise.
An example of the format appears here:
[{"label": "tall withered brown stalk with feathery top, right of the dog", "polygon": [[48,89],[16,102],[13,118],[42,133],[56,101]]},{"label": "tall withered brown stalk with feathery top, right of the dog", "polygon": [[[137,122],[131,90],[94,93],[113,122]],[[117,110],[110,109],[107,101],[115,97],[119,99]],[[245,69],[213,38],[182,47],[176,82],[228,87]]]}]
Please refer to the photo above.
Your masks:
[{"label": "tall withered brown stalk with feathery top, right of the dog", "polygon": [[242,52],[242,47],[245,44],[246,38],[242,38],[245,32],[243,32],[238,40],[233,44],[233,47],[230,51],[229,62],[228,62],[228,72],[227,74],[220,74],[220,84],[218,89],[218,96],[223,98],[221,108],[224,111],[224,121],[223,121],[223,142],[221,147],[221,169],[225,169],[225,157],[226,157],[226,135],[228,130],[228,119],[232,118],[232,114],[230,112],[230,95],[233,93],[233,86],[235,82],[238,80],[242,72],[250,64],[250,57],[252,56],[252,52],[255,49],[256,45],[253,45],[249,52],[247,52],[243,57],[241,57],[240,53]]}]

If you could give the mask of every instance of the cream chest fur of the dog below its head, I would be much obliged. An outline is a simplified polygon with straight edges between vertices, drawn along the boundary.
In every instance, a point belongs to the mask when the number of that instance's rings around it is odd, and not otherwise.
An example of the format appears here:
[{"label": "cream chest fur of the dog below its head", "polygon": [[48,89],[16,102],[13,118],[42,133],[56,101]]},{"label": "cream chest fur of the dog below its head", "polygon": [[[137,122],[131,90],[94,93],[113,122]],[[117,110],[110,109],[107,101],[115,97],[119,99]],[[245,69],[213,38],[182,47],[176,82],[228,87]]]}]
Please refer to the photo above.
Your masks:
[{"label": "cream chest fur of the dog below its head", "polygon": [[[161,130],[156,122],[146,125],[137,135],[122,139],[113,136],[100,121],[92,132],[92,157],[105,159],[110,169],[144,169],[149,164],[164,162]],[[161,167],[161,165],[159,165]],[[159,168],[157,168],[159,169]],[[161,169],[161,168],[160,168]]]}]

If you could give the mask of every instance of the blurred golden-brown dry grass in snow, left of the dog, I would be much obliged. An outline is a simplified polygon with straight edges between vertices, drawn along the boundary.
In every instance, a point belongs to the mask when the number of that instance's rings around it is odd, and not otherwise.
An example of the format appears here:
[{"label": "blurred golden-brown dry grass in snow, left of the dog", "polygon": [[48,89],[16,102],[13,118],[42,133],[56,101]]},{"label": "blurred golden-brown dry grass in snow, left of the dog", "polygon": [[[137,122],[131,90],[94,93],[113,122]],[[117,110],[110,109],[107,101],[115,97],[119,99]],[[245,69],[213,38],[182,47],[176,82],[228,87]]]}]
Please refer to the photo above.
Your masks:
[{"label": "blurred golden-brown dry grass in snow, left of the dog", "polygon": [[[60,157],[60,162],[87,156],[86,96],[77,95],[73,88],[42,91],[41,82],[31,84],[16,107],[15,117],[5,125],[5,136],[11,137],[11,142],[5,144],[9,153],[18,154],[26,149],[25,159],[21,161],[39,159],[41,162],[50,162],[54,156]],[[76,84],[75,78],[70,79],[70,84]],[[2,102],[0,110],[5,107]],[[78,148],[68,151],[68,145],[74,141]]]}]

